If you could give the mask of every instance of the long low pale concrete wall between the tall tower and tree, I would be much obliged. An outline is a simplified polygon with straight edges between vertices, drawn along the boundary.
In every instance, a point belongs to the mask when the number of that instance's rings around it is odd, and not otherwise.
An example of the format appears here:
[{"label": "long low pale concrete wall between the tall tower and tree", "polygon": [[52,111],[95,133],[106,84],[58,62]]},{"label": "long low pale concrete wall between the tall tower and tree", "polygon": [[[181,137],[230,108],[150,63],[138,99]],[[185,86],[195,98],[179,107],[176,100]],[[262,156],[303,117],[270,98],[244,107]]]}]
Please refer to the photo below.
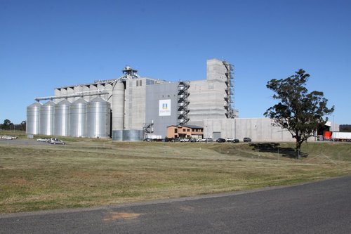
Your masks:
[{"label": "long low pale concrete wall between the tall tower and tree", "polygon": [[289,131],[272,123],[269,118],[204,119],[204,137],[213,138],[216,133],[220,133],[221,138],[232,137],[240,141],[244,137],[252,141],[295,141]]}]

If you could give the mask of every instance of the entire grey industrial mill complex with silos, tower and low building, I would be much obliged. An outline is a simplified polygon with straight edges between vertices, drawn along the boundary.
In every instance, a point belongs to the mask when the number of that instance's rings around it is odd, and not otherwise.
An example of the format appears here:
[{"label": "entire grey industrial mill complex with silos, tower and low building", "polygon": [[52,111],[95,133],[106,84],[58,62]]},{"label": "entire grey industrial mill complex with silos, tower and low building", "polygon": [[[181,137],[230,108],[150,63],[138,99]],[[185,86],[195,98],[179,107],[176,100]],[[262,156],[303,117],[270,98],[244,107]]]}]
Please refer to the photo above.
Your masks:
[{"label": "entire grey industrial mill complex with silos, tower and low building", "polygon": [[[272,119],[241,119],[234,109],[234,67],[207,60],[206,79],[167,82],[125,67],[118,79],[62,86],[27,106],[27,134],[112,138],[244,138],[293,141]],[[42,104],[41,101],[46,101]],[[183,126],[181,131],[178,127]],[[172,131],[172,132],[171,132]],[[184,131],[184,132],[183,132]]]}]

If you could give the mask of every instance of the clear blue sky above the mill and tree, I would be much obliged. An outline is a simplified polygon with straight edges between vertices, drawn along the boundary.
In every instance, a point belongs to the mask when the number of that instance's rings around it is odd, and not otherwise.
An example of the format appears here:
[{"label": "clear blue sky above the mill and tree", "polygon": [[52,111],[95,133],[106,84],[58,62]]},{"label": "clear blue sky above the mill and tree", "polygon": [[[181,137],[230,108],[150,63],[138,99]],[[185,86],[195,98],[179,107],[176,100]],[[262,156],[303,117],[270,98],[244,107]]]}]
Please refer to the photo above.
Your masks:
[{"label": "clear blue sky above the mill and tree", "polygon": [[0,0],[0,122],[19,124],[34,98],[125,65],[191,81],[219,58],[235,67],[239,117],[263,117],[276,102],[265,84],[303,68],[335,121],[351,124],[350,12],[347,0]]}]

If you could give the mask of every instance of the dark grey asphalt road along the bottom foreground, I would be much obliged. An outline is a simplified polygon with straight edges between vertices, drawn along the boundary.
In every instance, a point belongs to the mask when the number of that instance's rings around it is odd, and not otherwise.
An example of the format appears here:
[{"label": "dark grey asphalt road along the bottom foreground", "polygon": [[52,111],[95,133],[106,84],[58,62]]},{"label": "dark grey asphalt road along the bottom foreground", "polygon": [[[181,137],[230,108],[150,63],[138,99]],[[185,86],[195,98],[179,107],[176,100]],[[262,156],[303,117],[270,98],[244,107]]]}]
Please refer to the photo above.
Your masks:
[{"label": "dark grey asphalt road along the bottom foreground", "polygon": [[3,214],[0,233],[351,233],[351,176],[119,207]]}]

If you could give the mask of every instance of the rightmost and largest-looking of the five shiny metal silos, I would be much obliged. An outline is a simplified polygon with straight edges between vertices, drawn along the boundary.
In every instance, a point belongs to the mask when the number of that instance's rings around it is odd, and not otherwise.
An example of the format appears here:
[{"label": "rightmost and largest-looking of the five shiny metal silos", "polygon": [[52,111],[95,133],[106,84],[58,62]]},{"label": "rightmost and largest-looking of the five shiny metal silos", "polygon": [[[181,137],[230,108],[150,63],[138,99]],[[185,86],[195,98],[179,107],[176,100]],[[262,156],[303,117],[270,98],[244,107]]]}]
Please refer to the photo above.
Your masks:
[{"label": "rightmost and largest-looking of the five shiny metal silos", "polygon": [[86,108],[86,136],[92,138],[110,137],[111,105],[97,97]]}]

